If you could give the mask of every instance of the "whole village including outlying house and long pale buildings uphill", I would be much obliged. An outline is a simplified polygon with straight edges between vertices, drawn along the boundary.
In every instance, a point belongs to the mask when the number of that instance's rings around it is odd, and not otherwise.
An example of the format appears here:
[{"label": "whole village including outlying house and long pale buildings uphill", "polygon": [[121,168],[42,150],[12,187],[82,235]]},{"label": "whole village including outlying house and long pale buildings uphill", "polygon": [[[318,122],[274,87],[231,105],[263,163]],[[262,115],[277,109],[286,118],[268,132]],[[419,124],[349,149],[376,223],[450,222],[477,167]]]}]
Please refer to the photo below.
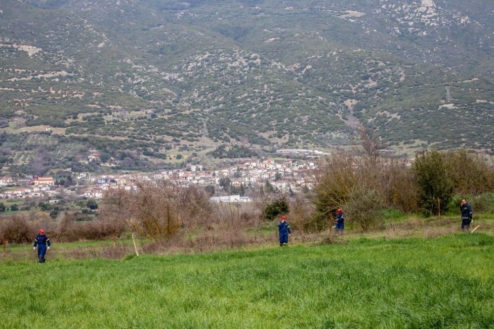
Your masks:
[{"label": "whole village including outlying house and long pale buildings uphill", "polygon": [[[89,172],[73,174],[73,185],[67,186],[51,176],[30,176],[23,179],[0,177],[0,199],[43,198],[56,203],[60,198],[101,199],[108,190],[122,188],[136,191],[138,183],[168,181],[178,186],[209,186],[211,201],[249,202],[246,190],[267,186],[273,191],[297,192],[313,183],[311,170],[314,158],[323,153],[315,150],[280,150],[285,155],[302,155],[303,159],[264,159],[209,169],[201,164],[153,173],[123,172],[96,175]],[[87,161],[100,161],[96,151]],[[212,187],[214,188],[212,188]],[[232,193],[233,192],[233,193]],[[214,196],[212,196],[214,195]]]}]

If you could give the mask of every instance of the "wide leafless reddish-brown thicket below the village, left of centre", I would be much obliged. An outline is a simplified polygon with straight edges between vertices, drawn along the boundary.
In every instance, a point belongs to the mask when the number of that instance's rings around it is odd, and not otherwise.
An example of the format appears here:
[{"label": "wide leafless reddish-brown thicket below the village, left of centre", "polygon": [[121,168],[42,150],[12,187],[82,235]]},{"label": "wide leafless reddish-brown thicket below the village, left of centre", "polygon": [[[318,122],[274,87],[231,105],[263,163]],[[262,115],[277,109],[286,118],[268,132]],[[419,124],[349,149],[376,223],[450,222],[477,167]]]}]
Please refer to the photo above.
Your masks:
[{"label": "wide leafless reddish-brown thicket below the village, left of centre", "polygon": [[241,231],[259,218],[258,213],[241,205],[211,204],[208,195],[195,186],[164,182],[140,183],[138,187],[137,192],[109,192],[100,217],[108,221],[109,226],[127,223],[140,236],[155,240],[152,248],[181,244],[180,241],[188,241],[187,236],[191,234],[198,243],[203,239],[222,244],[225,238],[220,234],[228,232],[234,236],[235,231]]}]

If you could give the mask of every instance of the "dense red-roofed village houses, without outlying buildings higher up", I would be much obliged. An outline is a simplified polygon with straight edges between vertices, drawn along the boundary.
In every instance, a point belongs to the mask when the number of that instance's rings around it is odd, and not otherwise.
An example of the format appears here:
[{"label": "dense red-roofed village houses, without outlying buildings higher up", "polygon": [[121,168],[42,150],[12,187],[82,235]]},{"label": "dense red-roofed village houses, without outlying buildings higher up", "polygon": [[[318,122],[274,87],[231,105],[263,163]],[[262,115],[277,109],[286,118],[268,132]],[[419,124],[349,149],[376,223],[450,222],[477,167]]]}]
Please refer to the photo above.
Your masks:
[{"label": "dense red-roofed village houses, without outlying buildings higher up", "polygon": [[[316,164],[314,162],[299,162],[290,159],[283,161],[271,159],[251,161],[217,170],[205,170],[202,165],[189,164],[187,168],[165,170],[151,174],[93,175],[81,173],[76,176],[77,185],[71,187],[56,186],[53,177],[34,176],[25,180],[0,177],[0,187],[10,186],[0,190],[0,198],[52,198],[55,195],[73,195],[75,197],[100,199],[105,194],[105,191],[111,189],[137,190],[139,182],[157,182],[160,180],[166,180],[180,186],[213,185],[216,191],[220,191],[220,183],[224,182],[225,178],[228,178],[232,186],[238,188],[269,182],[275,189],[280,191],[298,191],[300,186],[311,184],[310,171],[315,168]],[[240,195],[219,195],[211,200],[217,202],[248,202],[250,198]]]}]

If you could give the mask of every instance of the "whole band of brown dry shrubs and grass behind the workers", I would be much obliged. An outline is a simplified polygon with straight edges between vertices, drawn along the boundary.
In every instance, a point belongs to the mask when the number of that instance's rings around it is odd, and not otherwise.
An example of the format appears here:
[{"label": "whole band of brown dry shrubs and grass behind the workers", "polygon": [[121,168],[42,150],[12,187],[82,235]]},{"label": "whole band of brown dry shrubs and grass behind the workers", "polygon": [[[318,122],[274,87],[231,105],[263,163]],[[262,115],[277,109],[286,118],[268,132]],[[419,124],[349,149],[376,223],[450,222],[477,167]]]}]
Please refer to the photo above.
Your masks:
[{"label": "whole band of brown dry shrubs and grass behind the workers", "polygon": [[[412,215],[421,208],[424,180],[419,175],[423,173],[417,172],[418,166],[410,167],[407,158],[380,155],[377,142],[365,131],[362,141],[360,148],[339,151],[322,159],[313,173],[315,187],[306,193],[294,196],[259,193],[257,201],[249,204],[211,203],[204,189],[196,186],[184,187],[165,181],[139,183],[137,191],[109,191],[95,221],[76,222],[73,215],[64,214],[55,223],[45,213],[30,213],[0,218],[0,234],[13,244],[30,243],[40,227],[56,242],[117,239],[133,232],[140,238],[141,252],[157,254],[265,246],[276,243],[278,232],[275,223],[266,220],[264,210],[280,198],[289,204],[291,243],[337,243],[338,239],[328,238],[333,234],[329,233],[329,218],[334,219],[334,211],[340,207],[347,216],[345,238],[362,235],[362,231],[368,236],[386,238],[416,235],[427,238],[458,230],[459,224],[452,217],[438,220]],[[443,181],[437,184],[452,186],[452,192],[457,193],[443,209],[450,206],[457,210],[461,198],[471,193],[468,200],[475,216],[493,212],[493,194],[488,192],[494,190],[494,169],[483,156],[466,150],[430,151],[418,156],[425,164],[420,168],[432,168],[432,174],[438,167],[431,163],[440,161]],[[427,162],[430,159],[436,162]],[[386,212],[398,212],[406,220],[399,222],[392,215],[389,220],[384,219]],[[483,229],[492,228],[490,222],[483,224]],[[53,254],[121,258],[132,250],[127,244],[117,244],[58,250]]]}]

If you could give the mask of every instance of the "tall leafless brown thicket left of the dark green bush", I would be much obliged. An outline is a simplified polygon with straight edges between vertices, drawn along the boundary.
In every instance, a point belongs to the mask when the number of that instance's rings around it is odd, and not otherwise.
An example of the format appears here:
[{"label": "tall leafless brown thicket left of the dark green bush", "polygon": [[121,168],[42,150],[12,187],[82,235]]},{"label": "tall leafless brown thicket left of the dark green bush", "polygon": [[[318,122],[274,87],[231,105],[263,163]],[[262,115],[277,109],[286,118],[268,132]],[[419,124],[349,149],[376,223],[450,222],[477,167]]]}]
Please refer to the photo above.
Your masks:
[{"label": "tall leafless brown thicket left of the dark green bush", "polygon": [[374,190],[382,196],[385,207],[404,212],[418,208],[416,182],[407,159],[380,155],[377,142],[365,130],[361,141],[360,148],[340,150],[322,159],[314,172],[315,188],[308,195],[315,206],[319,229],[328,222],[329,214],[334,216],[335,210],[358,191]]}]

